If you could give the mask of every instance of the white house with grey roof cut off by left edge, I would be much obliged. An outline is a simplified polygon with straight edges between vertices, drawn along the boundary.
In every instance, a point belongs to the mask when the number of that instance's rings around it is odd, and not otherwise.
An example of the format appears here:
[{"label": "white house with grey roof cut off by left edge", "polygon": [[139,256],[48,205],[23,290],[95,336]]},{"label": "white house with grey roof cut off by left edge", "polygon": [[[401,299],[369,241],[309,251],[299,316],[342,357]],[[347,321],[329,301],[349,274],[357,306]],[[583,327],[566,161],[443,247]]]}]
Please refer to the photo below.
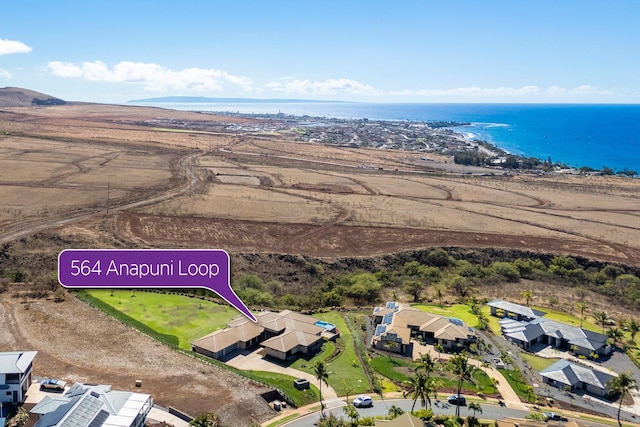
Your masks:
[{"label": "white house with grey roof cut off by left edge", "polygon": [[21,404],[33,377],[33,359],[37,351],[0,353],[0,403]]}]

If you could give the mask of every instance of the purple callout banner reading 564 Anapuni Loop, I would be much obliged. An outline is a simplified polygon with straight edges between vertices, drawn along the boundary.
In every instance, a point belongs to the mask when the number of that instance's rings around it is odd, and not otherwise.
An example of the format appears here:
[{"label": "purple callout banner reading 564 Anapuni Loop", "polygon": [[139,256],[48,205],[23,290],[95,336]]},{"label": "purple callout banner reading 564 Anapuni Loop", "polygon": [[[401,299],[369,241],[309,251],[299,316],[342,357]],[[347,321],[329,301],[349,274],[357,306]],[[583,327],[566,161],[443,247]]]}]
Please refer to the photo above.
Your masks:
[{"label": "purple callout banner reading 564 Anapuni Loop", "polygon": [[221,249],[66,249],[58,255],[65,288],[204,288],[256,321],[231,289],[229,254]]}]

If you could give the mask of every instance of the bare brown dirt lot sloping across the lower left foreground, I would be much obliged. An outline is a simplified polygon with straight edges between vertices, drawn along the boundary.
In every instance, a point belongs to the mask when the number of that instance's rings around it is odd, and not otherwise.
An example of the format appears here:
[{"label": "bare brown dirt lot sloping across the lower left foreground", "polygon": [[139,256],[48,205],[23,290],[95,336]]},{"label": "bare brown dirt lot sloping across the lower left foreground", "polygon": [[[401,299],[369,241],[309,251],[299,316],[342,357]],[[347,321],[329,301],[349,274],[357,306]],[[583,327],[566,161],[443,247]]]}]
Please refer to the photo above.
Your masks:
[{"label": "bare brown dirt lot sloping across the lower left foreground", "polygon": [[[38,350],[34,373],[150,393],[161,406],[218,413],[225,425],[273,415],[268,389],[159,344],[69,296],[64,302],[0,294],[0,351]],[[142,380],[142,388],[135,387]]]}]

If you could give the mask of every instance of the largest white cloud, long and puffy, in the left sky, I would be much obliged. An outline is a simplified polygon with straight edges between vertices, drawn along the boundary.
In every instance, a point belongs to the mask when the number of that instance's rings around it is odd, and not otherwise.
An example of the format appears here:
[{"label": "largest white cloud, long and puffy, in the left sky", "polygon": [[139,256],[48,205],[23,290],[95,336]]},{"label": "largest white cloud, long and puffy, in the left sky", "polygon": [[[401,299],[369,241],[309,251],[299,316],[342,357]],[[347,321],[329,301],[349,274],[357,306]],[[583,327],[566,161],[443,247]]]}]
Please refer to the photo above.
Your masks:
[{"label": "largest white cloud, long and puffy, in the left sky", "polygon": [[174,71],[158,64],[126,61],[119,62],[111,69],[102,61],[83,62],[80,65],[54,61],[49,62],[47,68],[59,77],[137,84],[146,90],[156,92],[222,91],[227,83],[251,91],[253,86],[253,82],[247,77],[235,76],[213,68],[186,68]]}]

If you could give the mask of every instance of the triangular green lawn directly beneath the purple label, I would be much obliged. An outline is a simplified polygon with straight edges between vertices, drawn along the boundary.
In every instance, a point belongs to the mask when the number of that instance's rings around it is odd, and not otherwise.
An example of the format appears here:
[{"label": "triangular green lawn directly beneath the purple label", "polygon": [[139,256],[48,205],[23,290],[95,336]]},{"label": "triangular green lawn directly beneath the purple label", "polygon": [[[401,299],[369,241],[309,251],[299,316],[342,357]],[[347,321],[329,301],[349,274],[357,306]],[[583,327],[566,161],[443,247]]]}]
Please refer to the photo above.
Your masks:
[{"label": "triangular green lawn directly beneath the purple label", "polygon": [[191,341],[224,328],[239,314],[228,305],[177,294],[110,289],[86,293],[161,334],[177,337],[185,350],[191,349]]}]

